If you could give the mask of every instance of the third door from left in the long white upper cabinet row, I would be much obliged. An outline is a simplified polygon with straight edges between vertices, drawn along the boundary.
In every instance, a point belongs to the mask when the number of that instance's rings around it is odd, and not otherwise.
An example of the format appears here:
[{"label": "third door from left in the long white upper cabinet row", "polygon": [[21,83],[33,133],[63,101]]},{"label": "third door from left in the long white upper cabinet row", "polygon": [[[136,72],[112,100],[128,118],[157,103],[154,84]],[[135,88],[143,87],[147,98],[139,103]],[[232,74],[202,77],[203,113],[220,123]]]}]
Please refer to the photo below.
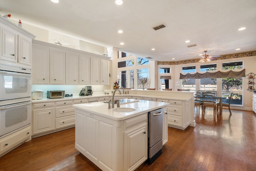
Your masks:
[{"label": "third door from left in the long white upper cabinet row", "polygon": [[66,84],[78,84],[78,54],[66,53]]}]

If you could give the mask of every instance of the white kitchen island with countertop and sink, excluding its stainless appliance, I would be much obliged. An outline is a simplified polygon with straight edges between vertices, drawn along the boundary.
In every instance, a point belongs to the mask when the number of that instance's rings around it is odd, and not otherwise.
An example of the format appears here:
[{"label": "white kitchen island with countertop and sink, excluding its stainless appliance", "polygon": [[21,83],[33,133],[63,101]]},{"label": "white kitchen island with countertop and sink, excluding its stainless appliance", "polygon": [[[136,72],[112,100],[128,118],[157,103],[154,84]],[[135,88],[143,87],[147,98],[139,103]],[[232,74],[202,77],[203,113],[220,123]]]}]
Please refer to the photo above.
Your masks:
[{"label": "white kitchen island with countertop and sink, excluding its stainless appliance", "polygon": [[75,147],[102,170],[135,170],[148,159],[149,111],[163,108],[163,129],[167,129],[169,103],[129,100],[130,103],[120,103],[120,108],[115,105],[110,109],[104,102],[73,105]]}]

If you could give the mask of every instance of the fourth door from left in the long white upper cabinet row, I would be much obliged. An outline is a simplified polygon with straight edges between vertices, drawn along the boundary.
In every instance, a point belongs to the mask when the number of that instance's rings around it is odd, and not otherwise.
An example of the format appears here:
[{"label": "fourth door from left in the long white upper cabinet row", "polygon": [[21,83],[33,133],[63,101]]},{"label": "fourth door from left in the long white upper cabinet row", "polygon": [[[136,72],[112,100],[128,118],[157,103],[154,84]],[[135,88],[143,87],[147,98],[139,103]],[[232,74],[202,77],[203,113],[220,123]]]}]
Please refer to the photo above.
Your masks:
[{"label": "fourth door from left in the long white upper cabinet row", "polygon": [[79,84],[90,84],[90,57],[79,55]]}]

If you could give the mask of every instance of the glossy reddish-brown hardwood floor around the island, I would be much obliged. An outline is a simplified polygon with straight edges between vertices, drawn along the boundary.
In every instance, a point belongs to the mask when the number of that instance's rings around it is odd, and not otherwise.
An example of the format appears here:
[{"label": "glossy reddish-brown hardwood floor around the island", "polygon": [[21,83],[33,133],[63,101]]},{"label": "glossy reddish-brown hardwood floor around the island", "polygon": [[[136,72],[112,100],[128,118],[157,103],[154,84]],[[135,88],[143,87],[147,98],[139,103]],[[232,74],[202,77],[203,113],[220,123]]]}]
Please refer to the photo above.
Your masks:
[{"label": "glossy reddish-brown hardwood floor around the island", "polygon": [[[196,126],[168,127],[168,143],[151,165],[140,171],[256,171],[256,114],[252,111],[212,109],[198,114]],[[99,171],[74,148],[75,129],[67,129],[24,143],[0,157],[0,171]]]}]

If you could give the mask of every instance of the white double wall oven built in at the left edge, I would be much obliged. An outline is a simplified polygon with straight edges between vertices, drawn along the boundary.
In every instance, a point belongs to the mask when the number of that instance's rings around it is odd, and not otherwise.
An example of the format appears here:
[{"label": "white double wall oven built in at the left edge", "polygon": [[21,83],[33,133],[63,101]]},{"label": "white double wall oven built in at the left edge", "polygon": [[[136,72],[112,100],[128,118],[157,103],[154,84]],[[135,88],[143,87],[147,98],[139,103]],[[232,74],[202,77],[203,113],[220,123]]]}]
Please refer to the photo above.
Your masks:
[{"label": "white double wall oven built in at the left edge", "polygon": [[31,124],[31,70],[0,64],[0,138]]}]

